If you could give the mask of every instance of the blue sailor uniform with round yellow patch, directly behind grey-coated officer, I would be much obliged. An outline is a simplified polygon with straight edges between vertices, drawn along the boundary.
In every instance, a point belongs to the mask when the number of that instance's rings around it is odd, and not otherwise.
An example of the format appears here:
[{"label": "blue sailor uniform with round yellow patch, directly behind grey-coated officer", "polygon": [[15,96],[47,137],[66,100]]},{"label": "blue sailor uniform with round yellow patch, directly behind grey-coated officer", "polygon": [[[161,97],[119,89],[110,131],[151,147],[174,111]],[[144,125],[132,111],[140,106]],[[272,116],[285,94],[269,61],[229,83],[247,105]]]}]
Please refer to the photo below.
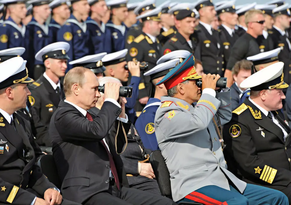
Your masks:
[{"label": "blue sailor uniform with round yellow patch, directly behind grey-coated officer", "polygon": [[155,114],[160,105],[160,99],[150,98],[134,124],[146,149],[159,149],[154,123]]}]

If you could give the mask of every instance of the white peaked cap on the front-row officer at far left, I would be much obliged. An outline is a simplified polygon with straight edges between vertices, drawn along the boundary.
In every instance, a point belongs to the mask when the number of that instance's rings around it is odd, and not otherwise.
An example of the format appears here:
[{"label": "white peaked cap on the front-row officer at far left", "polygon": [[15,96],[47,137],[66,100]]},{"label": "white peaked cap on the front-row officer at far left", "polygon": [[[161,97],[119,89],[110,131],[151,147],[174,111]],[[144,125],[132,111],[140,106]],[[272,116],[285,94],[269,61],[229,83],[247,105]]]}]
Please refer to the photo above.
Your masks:
[{"label": "white peaked cap on the front-row officer at far left", "polygon": [[26,61],[22,57],[15,57],[0,64],[1,73],[0,89],[7,88],[16,83],[31,83],[33,79],[28,77]]}]

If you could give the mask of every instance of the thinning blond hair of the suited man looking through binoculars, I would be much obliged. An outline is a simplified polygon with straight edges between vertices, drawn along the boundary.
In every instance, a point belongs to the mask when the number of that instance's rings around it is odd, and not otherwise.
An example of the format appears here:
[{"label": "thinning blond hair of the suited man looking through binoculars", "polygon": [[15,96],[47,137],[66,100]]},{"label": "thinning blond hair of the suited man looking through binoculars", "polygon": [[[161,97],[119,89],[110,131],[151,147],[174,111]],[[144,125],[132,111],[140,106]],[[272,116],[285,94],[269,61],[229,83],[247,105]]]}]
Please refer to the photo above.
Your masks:
[{"label": "thinning blond hair of the suited man looking through binoculars", "polygon": [[92,72],[92,71],[84,67],[75,67],[69,70],[69,72],[65,75],[63,90],[66,97],[72,94],[73,84],[76,83],[80,87],[83,86],[83,84],[85,83],[85,72]]}]

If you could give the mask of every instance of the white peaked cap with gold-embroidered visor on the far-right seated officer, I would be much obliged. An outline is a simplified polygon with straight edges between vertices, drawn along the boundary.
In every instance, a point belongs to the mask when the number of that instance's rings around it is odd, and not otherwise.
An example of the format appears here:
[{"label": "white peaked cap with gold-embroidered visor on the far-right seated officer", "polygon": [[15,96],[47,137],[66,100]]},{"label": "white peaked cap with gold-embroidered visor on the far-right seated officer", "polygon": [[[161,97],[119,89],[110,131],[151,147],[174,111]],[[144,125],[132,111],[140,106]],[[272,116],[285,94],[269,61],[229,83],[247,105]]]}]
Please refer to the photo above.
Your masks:
[{"label": "white peaked cap with gold-embroidered visor on the far-right seated officer", "polygon": [[283,80],[283,62],[277,62],[254,73],[241,84],[241,88],[250,88],[253,91],[267,89],[284,89],[288,87]]}]

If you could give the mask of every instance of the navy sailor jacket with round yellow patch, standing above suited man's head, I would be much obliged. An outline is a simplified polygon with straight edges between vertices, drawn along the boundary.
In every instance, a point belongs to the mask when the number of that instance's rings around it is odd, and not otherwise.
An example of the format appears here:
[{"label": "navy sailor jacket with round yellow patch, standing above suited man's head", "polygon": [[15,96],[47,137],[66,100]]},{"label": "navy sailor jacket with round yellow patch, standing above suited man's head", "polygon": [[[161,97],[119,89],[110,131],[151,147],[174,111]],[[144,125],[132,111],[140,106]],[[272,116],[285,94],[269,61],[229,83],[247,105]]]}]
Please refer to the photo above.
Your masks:
[{"label": "navy sailor jacket with round yellow patch, standing above suited man's head", "polygon": [[[65,24],[58,30],[57,41],[64,41],[70,44],[67,52],[70,61],[90,55],[89,52],[89,31],[86,22],[78,22],[74,15],[65,21]],[[72,68],[68,64],[66,72]]]}]

